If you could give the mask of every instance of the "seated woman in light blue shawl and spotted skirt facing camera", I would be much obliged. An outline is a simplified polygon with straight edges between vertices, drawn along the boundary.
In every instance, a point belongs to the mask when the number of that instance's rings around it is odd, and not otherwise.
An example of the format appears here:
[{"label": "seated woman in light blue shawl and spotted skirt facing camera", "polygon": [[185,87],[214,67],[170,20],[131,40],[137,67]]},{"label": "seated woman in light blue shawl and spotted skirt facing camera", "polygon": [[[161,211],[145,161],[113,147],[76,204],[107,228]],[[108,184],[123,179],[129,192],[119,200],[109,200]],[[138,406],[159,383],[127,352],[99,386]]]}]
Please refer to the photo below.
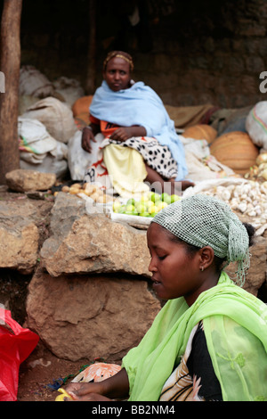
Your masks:
[{"label": "seated woman in light blue shawl and spotted skirt facing camera", "polygon": [[[177,193],[192,185],[185,180],[182,142],[158,94],[143,82],[134,83],[133,70],[133,59],[124,52],[111,52],[104,61],[104,80],[90,106],[91,125],[82,135],[86,152],[95,146],[99,151],[85,181],[109,174],[117,183],[145,181],[161,192]],[[100,132],[101,143],[95,138]]]}]

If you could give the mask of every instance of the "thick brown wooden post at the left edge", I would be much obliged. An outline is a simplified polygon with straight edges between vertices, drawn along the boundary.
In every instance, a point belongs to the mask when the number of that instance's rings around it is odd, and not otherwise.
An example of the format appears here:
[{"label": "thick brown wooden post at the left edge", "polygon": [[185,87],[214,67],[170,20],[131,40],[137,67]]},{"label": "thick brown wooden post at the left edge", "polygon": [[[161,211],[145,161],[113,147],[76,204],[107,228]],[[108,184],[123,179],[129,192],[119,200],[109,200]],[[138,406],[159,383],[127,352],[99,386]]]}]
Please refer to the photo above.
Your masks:
[{"label": "thick brown wooden post at the left edge", "polygon": [[22,0],[4,0],[1,21],[0,184],[5,174],[20,168],[18,112],[20,83],[20,16]]}]

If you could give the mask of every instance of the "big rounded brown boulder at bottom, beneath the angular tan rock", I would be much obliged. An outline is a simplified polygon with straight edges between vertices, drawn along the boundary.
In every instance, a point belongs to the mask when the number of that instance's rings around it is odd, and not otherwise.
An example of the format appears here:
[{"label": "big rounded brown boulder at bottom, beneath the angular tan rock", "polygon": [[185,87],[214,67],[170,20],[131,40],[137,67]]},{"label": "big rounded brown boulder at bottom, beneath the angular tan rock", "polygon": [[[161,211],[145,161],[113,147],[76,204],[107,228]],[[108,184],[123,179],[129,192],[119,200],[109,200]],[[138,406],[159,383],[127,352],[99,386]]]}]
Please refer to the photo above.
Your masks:
[{"label": "big rounded brown boulder at bottom, beneath the angular tan rock", "polygon": [[119,360],[160,309],[146,281],[38,270],[28,286],[27,326],[57,357]]}]

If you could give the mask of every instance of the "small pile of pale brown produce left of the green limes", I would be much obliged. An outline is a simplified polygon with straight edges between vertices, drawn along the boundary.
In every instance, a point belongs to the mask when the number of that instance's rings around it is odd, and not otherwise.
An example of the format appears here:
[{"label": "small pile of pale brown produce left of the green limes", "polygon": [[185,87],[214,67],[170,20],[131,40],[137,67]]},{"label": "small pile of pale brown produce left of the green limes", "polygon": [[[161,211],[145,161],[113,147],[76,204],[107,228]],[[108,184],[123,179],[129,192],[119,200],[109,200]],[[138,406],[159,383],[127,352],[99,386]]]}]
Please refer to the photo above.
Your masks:
[{"label": "small pile of pale brown produce left of the green limes", "polygon": [[80,198],[85,198],[86,196],[89,196],[96,203],[105,204],[114,201],[113,197],[105,193],[98,185],[93,185],[90,183],[85,183],[84,185],[65,185],[62,186],[61,192],[77,195]]}]

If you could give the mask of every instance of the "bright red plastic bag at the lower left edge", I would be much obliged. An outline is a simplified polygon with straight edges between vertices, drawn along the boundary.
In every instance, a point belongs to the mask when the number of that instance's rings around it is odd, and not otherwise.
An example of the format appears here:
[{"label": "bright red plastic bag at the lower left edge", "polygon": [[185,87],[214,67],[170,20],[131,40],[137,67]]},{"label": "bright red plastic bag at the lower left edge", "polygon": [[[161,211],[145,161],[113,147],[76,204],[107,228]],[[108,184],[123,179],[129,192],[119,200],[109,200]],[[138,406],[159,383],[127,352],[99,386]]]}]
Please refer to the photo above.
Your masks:
[{"label": "bright red plastic bag at the lower left edge", "polygon": [[0,305],[0,401],[17,400],[20,364],[38,341],[36,333],[21,327]]}]

